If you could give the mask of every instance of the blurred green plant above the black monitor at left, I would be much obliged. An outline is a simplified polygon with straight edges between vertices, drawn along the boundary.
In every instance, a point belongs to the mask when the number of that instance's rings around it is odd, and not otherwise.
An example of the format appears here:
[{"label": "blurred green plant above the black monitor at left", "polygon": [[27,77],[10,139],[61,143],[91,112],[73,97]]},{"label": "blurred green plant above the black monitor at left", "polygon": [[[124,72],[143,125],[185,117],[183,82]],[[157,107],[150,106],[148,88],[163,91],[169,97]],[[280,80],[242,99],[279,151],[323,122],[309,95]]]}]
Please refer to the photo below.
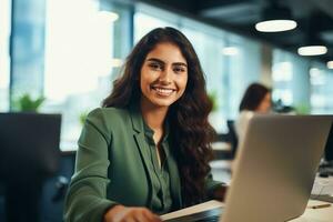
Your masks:
[{"label": "blurred green plant above the black monitor at left", "polygon": [[30,94],[26,93],[18,99],[16,107],[18,111],[22,112],[38,112],[39,108],[46,100],[44,97],[32,99]]}]

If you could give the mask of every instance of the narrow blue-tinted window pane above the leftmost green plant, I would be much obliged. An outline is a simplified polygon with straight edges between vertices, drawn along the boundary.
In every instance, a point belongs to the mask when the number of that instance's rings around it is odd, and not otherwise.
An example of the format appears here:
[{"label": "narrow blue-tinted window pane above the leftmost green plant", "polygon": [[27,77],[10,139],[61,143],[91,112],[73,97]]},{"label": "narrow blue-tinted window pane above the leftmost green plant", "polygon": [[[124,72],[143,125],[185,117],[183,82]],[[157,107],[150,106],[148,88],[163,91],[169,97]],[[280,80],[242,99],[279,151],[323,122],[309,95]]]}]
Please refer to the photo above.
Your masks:
[{"label": "narrow blue-tinted window pane above the leftmost green plant", "polygon": [[40,0],[16,0],[11,27],[11,107],[28,93],[43,93],[44,72],[44,7]]}]

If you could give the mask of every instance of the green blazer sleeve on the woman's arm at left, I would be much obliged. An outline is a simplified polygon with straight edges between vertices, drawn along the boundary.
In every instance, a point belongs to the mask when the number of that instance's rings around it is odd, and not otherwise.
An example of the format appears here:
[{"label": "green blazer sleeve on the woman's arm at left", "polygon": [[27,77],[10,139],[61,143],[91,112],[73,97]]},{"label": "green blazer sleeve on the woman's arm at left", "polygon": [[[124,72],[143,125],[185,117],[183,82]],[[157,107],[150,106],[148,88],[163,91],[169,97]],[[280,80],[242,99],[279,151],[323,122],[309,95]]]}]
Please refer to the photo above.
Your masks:
[{"label": "green blazer sleeve on the woman's arm at left", "polygon": [[107,199],[111,139],[101,109],[89,113],[78,141],[75,172],[65,198],[65,222],[102,221],[104,212],[117,204]]}]

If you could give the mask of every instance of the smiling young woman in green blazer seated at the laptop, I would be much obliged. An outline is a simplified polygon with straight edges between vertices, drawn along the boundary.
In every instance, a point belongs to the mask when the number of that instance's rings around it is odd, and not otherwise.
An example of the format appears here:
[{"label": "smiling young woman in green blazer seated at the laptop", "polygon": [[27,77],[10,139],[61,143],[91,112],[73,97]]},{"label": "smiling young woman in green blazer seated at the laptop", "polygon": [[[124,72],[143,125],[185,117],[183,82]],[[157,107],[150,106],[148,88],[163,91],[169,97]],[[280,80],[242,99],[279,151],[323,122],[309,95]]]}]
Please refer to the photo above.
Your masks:
[{"label": "smiling young woman in green blazer seated at the laptop", "polygon": [[209,167],[211,108],[190,41],[173,28],[149,32],[103,108],[87,118],[65,221],[160,221],[158,214],[223,199]]}]

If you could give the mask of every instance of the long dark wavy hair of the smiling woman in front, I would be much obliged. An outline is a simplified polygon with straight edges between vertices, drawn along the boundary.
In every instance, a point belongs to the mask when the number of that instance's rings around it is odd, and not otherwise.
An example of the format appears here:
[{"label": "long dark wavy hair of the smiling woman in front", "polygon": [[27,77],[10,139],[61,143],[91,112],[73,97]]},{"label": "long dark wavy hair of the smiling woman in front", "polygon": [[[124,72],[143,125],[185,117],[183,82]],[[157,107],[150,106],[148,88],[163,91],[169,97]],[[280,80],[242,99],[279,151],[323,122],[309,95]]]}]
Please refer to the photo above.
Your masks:
[{"label": "long dark wavy hair of the smiling woman in front", "polygon": [[183,204],[192,205],[206,198],[204,181],[211,170],[209,161],[215,131],[208,122],[212,102],[205,91],[204,74],[186,37],[170,27],[157,28],[145,34],[127,58],[123,74],[113,82],[113,91],[102,105],[127,108],[140,101],[141,67],[147,54],[163,42],[178,46],[188,62],[186,89],[169,108],[168,121],[172,129],[171,149],[180,171]]}]

